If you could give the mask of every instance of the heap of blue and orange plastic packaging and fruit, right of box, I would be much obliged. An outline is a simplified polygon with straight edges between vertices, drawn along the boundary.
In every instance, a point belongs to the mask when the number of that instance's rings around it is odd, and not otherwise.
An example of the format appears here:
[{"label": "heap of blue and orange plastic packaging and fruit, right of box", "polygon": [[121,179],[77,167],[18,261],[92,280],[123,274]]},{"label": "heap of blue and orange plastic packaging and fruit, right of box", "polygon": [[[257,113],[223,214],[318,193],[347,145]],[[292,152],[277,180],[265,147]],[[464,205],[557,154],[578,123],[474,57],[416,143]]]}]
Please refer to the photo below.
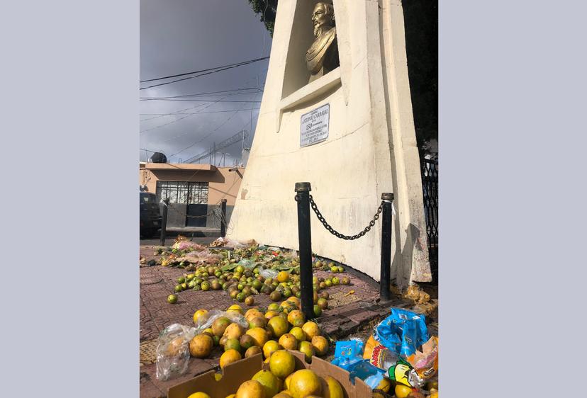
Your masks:
[{"label": "heap of blue and orange plastic packaging and fruit, right of box", "polygon": [[334,365],[359,377],[373,397],[438,396],[438,337],[428,336],[425,317],[392,308],[366,343],[337,341]]}]

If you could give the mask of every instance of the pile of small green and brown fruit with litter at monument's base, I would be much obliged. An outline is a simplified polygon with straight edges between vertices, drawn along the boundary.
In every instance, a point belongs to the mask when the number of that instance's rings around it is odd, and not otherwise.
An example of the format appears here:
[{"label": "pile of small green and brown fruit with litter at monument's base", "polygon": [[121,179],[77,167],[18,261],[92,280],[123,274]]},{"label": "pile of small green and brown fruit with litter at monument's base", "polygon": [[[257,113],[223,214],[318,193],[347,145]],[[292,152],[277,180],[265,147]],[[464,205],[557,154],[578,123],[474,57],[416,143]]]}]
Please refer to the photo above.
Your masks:
[{"label": "pile of small green and brown fruit with litter at monument's base", "polygon": [[[174,292],[167,297],[169,304],[177,303],[177,293],[184,290],[225,290],[231,298],[248,306],[255,305],[253,296],[259,294],[269,295],[274,302],[301,297],[300,266],[296,251],[259,246],[256,242],[245,246],[222,238],[214,243],[216,246],[207,249],[180,239],[165,252],[163,248],[157,250],[157,253],[164,254],[160,259],[161,266],[177,266],[194,271],[177,278]],[[228,250],[228,247],[232,249]],[[313,268],[328,269],[332,273],[345,271],[345,268],[332,261],[327,263],[318,258],[314,258]],[[328,308],[329,295],[322,290],[340,284],[350,285],[350,277],[313,277],[313,309],[316,317]]]}]

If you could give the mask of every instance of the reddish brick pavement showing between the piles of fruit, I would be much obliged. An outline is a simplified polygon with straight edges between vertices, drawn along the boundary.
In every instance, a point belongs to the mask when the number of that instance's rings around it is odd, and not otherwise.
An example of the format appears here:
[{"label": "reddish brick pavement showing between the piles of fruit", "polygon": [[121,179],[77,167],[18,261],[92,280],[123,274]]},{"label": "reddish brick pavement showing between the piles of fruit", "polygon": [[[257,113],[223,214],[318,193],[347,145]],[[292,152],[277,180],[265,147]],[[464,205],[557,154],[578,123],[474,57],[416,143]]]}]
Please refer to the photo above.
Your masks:
[{"label": "reddish brick pavement showing between the piles of fruit", "polygon": [[[147,260],[157,258],[153,255],[152,246],[141,246],[140,254]],[[401,297],[396,297],[391,302],[380,303],[378,283],[351,269],[347,271],[336,275],[341,279],[345,275],[350,276],[351,285],[327,288],[325,291],[332,298],[328,300],[329,306],[332,304],[335,307],[325,309],[322,316],[316,319],[323,332],[332,339],[342,339],[386,317],[390,307],[410,307],[410,303],[403,301]],[[249,308],[244,303],[231,299],[224,290],[208,292],[185,290],[177,293],[177,304],[169,305],[167,296],[172,294],[177,278],[184,273],[186,271],[183,269],[162,266],[140,268],[140,342],[157,339],[160,331],[170,324],[192,325],[192,317],[197,309],[227,309],[235,303],[245,309]],[[332,275],[325,271],[314,271],[314,274],[318,277]],[[354,290],[352,297],[345,297],[350,290]],[[252,307],[267,308],[272,303],[269,295],[259,294],[254,297],[255,305]],[[140,396],[165,397],[168,387],[209,370],[217,370],[220,355],[220,349],[216,348],[210,358],[203,360],[191,358],[186,375],[169,382],[160,382],[156,379],[155,364],[142,365],[140,367]]]}]

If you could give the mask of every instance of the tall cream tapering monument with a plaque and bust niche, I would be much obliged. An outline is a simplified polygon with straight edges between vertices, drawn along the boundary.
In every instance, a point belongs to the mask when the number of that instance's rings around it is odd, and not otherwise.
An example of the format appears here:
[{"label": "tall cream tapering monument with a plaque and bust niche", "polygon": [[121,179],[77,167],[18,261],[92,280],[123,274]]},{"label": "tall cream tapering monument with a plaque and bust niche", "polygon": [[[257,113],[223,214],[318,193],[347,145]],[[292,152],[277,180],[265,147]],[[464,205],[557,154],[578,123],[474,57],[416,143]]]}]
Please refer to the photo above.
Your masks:
[{"label": "tall cream tapering monument with a plaque and bust niche", "polygon": [[[395,195],[391,277],[432,279],[401,0],[280,0],[230,239],[298,249],[296,182],[325,220],[362,231]],[[379,280],[381,220],[354,241],[312,215],[312,250]]]}]

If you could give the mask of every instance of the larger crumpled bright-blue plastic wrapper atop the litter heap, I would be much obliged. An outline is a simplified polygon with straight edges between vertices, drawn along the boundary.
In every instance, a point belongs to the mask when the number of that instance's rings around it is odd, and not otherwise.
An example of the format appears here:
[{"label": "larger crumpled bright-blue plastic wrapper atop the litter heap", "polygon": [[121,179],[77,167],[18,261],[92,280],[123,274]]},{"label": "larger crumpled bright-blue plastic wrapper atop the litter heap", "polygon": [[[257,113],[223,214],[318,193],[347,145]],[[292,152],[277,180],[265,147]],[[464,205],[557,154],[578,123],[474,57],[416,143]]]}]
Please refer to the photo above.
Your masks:
[{"label": "larger crumpled bright-blue plastic wrapper atop the litter heap", "polygon": [[426,319],[407,309],[392,308],[391,315],[375,327],[373,336],[388,350],[408,358],[428,340]]}]

